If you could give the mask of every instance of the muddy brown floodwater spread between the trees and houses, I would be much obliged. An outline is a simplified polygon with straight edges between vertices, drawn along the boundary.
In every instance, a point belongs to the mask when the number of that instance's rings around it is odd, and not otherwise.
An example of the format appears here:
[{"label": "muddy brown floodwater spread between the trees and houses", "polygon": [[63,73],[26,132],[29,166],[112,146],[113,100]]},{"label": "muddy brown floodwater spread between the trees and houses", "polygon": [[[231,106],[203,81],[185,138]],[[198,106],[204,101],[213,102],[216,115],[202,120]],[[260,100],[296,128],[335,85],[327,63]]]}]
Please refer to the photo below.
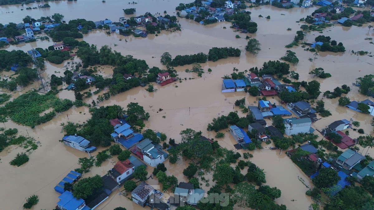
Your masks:
[{"label": "muddy brown floodwater spread between the trees and houses", "polygon": [[[124,16],[122,9],[125,8],[136,8],[137,13],[135,15],[141,15],[145,12],[163,13],[164,10],[173,15],[177,12],[175,11],[175,6],[180,2],[189,3],[189,1],[163,0],[140,0],[137,2],[138,4],[128,4],[120,0],[110,0],[106,3],[102,3],[99,0],[53,1],[49,2],[50,8],[23,11],[21,11],[21,5],[1,6],[0,22],[2,24],[7,24],[8,22],[18,23],[26,15],[37,19],[40,16],[53,15],[54,13],[64,15],[65,21],[77,18],[85,18],[92,21],[108,18],[112,21],[117,21],[119,17]],[[28,6],[34,7],[37,4],[29,4]],[[225,74],[230,74],[233,67],[244,71],[255,66],[261,67],[263,62],[279,59],[287,50],[284,46],[291,43],[296,31],[300,28],[301,23],[295,21],[310,15],[315,8],[285,10],[272,6],[261,6],[247,10],[252,12],[252,20],[258,23],[258,31],[256,34],[239,34],[242,37],[241,39],[235,38],[236,33],[229,28],[231,25],[229,22],[203,26],[186,19],[179,19],[183,28],[182,31],[175,33],[162,32],[158,36],[150,34],[147,38],[123,37],[117,34],[107,35],[99,30],[84,35],[81,40],[96,44],[98,48],[108,45],[123,55],[132,55],[135,58],[144,59],[150,67],[156,66],[160,68],[165,68],[160,64],[160,55],[164,52],[169,52],[172,56],[176,56],[197,52],[208,53],[211,47],[229,46],[239,47],[239,49],[243,50],[240,58],[222,59],[217,62],[202,64],[206,72],[202,78],[197,78],[195,74],[184,72],[186,68],[191,68],[190,65],[177,67],[175,69],[180,74],[179,76],[187,78],[182,83],[172,83],[164,87],[156,85],[157,91],[154,93],[148,93],[144,88],[137,87],[112,96],[110,100],[101,102],[99,105],[117,104],[126,107],[129,102],[138,102],[144,106],[144,109],[151,116],[150,120],[146,122],[146,127],[166,133],[168,138],[174,138],[177,142],[180,141],[180,131],[186,128],[201,130],[204,136],[213,137],[215,133],[209,133],[206,130],[206,126],[211,122],[212,118],[227,115],[230,111],[236,110],[233,104],[237,99],[246,97],[246,104],[252,104],[255,101],[254,97],[248,96],[244,92],[221,93],[221,77]],[[284,15],[281,15],[282,13]],[[258,18],[260,14],[262,16],[270,15],[271,19]],[[223,27],[227,29],[223,29]],[[292,28],[292,31],[287,31],[287,28]],[[244,51],[246,45],[245,35],[252,35],[262,44],[262,50],[258,55],[251,55]],[[313,42],[318,35],[321,34],[314,31],[306,35],[305,41]],[[314,57],[311,52],[304,51],[300,46],[293,47],[291,50],[296,52],[300,62],[297,65],[291,65],[291,70],[300,74],[300,81],[318,80],[321,83],[321,92],[333,90],[337,86],[347,84],[352,89],[348,94],[351,99],[356,101],[365,99],[364,96],[358,93],[358,89],[352,86],[352,83],[355,82],[357,77],[373,74],[373,58],[352,55],[350,51],[364,50],[371,52],[373,45],[369,44],[369,41],[364,40],[364,38],[373,37],[373,34],[368,34],[367,25],[352,28],[335,25],[327,28],[323,35],[329,35],[332,40],[342,42],[347,51],[345,53],[321,52],[314,62],[309,62],[308,58]],[[125,42],[125,39],[128,42]],[[52,45],[52,41],[37,41],[36,43],[9,46],[7,49],[27,51],[36,47],[47,48],[50,45]],[[79,61],[79,59],[75,58],[75,61]],[[67,62],[60,65],[46,62],[47,69],[43,74],[44,77],[49,78],[52,74],[62,75]],[[310,70],[318,67],[324,68],[326,72],[332,74],[332,77],[319,79],[313,78],[308,74]],[[206,71],[208,68],[212,69],[211,73]],[[101,71],[100,74],[110,76],[113,67],[99,67],[98,69]],[[9,76],[10,74],[10,72],[3,72],[3,76]],[[188,80],[190,77],[195,79]],[[18,89],[13,92],[13,97],[15,98],[38,86],[35,82],[29,87]],[[91,88],[91,90],[94,90],[94,88]],[[64,90],[58,94],[58,97],[73,100],[74,94]],[[96,99],[97,95],[94,95],[93,98]],[[322,98],[322,95],[319,98]],[[272,102],[279,102],[278,97],[269,99]],[[90,102],[92,98],[85,100]],[[324,99],[324,101],[325,108],[331,111],[332,116],[315,122],[313,127],[322,129],[332,121],[353,118],[361,122],[360,128],[363,128],[365,133],[371,134],[373,127],[371,126],[372,117],[370,115],[364,115],[338,106],[337,99]],[[162,108],[163,111],[157,113],[159,108]],[[21,167],[10,166],[9,164],[9,161],[18,152],[22,151],[21,148],[10,146],[0,153],[0,186],[4,189],[0,192],[0,209],[22,209],[25,198],[33,194],[39,195],[40,199],[33,209],[52,209],[56,206],[59,194],[53,190],[53,187],[70,170],[78,167],[78,158],[87,157],[84,152],[77,151],[58,142],[63,137],[59,124],[66,121],[82,123],[88,120],[89,117],[88,108],[73,107],[59,114],[53,120],[36,126],[34,129],[19,126],[11,121],[3,124],[6,128],[17,128],[19,134],[33,136],[40,142],[40,147],[30,154],[30,161]],[[226,136],[218,139],[220,145],[228,149],[234,149],[234,139],[227,131],[224,132]],[[353,131],[350,132],[350,135],[352,137],[359,136],[358,133]],[[267,149],[271,145],[265,146],[264,150],[251,151],[254,154],[251,161],[265,170],[266,184],[281,189],[282,196],[276,201],[280,204],[285,204],[291,210],[307,209],[312,201],[305,195],[306,186],[298,179],[303,179],[307,186],[312,186],[309,178],[286,157],[285,151],[279,155],[279,151]],[[239,152],[242,153],[243,151]],[[369,149],[368,153],[373,154],[373,152],[373,149]],[[95,154],[97,152],[93,155]],[[116,159],[116,157],[113,157],[111,160],[105,161],[99,168],[93,167],[91,172],[85,174],[85,177],[95,174],[104,175],[113,167]],[[165,161],[165,165],[168,168],[166,172],[168,175],[175,175],[179,181],[186,181],[181,172],[188,166],[187,161],[179,160],[177,164],[169,164],[169,161]],[[151,173],[153,168],[148,166],[147,170]],[[205,177],[209,179],[209,184],[212,186],[211,173],[206,174]],[[158,184],[156,179],[151,179],[147,182],[151,185]],[[203,189],[207,191],[210,186],[204,185]],[[167,198],[168,195],[165,195],[164,200],[166,201]],[[143,209],[116,193],[111,194],[110,198],[102,203],[98,209],[111,210],[118,206],[123,206],[127,209]]]}]

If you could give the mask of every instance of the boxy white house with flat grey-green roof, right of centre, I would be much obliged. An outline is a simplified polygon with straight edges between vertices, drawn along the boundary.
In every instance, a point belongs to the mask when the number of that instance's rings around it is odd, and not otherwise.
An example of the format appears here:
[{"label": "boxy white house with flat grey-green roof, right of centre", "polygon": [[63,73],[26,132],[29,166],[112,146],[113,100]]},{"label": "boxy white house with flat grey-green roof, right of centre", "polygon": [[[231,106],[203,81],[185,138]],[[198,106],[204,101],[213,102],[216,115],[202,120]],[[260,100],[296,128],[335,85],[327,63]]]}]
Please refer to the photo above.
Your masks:
[{"label": "boxy white house with flat grey-green roof, right of centre", "polygon": [[287,136],[291,136],[298,133],[310,133],[312,128],[312,120],[310,118],[299,118],[299,119],[292,119],[292,120],[285,120],[285,134]]}]

